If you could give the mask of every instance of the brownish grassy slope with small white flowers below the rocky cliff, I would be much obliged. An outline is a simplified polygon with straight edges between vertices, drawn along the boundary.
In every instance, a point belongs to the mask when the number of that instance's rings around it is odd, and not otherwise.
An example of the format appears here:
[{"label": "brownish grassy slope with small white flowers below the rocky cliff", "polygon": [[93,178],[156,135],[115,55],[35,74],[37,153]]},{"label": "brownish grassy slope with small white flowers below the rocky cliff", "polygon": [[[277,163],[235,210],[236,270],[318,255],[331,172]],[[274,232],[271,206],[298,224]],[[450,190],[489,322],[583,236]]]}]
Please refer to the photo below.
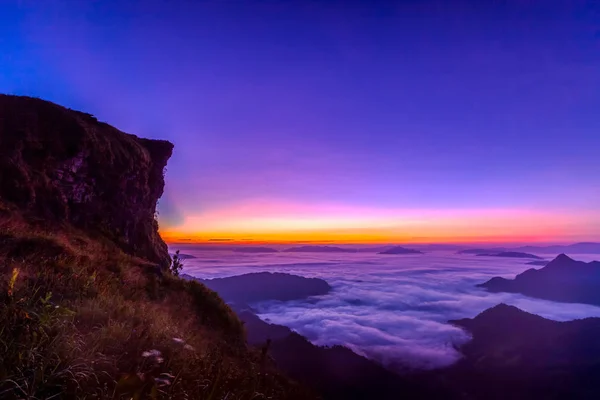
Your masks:
[{"label": "brownish grassy slope with small white flowers below the rocky cliff", "polygon": [[69,227],[0,228],[0,398],[312,397],[205,286]]}]

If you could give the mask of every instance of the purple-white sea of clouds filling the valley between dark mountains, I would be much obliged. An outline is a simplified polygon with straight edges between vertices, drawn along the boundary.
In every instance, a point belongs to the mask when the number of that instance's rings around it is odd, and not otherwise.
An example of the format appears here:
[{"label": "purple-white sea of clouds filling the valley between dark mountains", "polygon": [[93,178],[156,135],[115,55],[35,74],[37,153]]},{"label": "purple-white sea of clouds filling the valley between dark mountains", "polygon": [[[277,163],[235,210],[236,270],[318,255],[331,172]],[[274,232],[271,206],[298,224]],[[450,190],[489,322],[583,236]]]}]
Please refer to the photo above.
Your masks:
[{"label": "purple-white sea of clouds filling the valley between dark mountains", "polygon": [[[328,295],[253,306],[262,319],[288,326],[315,344],[342,344],[396,369],[454,363],[460,358],[456,347],[469,336],[448,320],[472,318],[499,303],[559,321],[600,317],[600,307],[488,293],[475,286],[493,276],[512,278],[531,268],[526,259],[451,252],[246,254],[193,248],[182,252],[198,257],[185,260],[184,272],[199,278],[277,271],[325,279],[333,287]],[[584,261],[598,258],[571,256]]]}]

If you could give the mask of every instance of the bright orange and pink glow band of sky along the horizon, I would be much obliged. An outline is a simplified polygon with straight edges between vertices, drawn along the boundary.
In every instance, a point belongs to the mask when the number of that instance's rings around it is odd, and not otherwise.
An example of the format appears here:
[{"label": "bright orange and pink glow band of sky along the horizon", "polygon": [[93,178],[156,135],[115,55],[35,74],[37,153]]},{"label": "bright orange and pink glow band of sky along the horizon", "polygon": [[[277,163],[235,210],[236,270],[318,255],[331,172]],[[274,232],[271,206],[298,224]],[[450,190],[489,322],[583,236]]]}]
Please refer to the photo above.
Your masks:
[{"label": "bright orange and pink glow band of sky along the horizon", "polygon": [[598,215],[537,210],[397,210],[255,202],[161,227],[170,243],[517,243],[596,237]]}]

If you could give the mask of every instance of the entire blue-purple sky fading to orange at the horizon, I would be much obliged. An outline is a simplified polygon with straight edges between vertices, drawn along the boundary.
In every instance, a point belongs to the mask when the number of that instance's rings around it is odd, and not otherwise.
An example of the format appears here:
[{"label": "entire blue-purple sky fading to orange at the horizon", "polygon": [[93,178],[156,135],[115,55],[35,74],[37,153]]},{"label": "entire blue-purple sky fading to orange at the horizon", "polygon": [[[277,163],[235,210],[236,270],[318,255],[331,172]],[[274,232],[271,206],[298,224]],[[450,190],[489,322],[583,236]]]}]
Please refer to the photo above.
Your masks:
[{"label": "entire blue-purple sky fading to orange at the horizon", "polygon": [[0,92],[175,144],[171,241],[600,240],[600,4],[0,1]]}]

